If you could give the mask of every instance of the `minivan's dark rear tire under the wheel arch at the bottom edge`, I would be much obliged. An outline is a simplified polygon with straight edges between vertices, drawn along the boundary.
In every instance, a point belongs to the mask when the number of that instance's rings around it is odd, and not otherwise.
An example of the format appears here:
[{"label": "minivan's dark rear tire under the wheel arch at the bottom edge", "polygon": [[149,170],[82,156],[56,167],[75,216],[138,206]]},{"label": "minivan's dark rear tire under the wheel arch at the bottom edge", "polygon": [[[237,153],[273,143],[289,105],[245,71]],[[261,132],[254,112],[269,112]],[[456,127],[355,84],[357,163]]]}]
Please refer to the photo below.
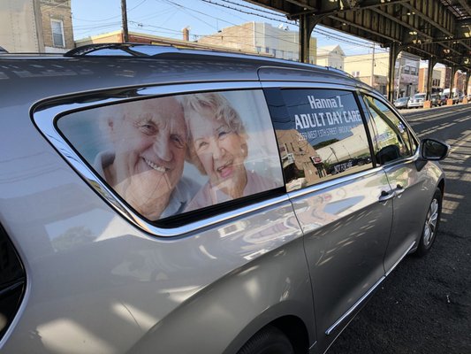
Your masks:
[{"label": "minivan's dark rear tire under the wheel arch at the bottom edge", "polygon": [[294,350],[283,332],[269,326],[255,333],[237,354],[294,354]]}]

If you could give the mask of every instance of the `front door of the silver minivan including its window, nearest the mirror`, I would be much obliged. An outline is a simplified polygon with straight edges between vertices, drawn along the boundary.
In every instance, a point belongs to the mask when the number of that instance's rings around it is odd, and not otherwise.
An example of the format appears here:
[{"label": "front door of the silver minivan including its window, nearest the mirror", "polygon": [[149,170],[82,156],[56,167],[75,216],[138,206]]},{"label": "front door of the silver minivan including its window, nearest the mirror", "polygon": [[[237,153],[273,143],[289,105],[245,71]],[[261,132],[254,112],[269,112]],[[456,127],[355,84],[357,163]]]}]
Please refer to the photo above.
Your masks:
[{"label": "front door of the silver minivan including its window, nearest the mirror", "polygon": [[429,197],[427,176],[416,164],[418,145],[406,123],[381,98],[363,97],[370,115],[368,128],[376,163],[383,166],[394,190],[391,240],[384,256],[384,268],[389,273],[422,233],[427,212],[423,200]]}]

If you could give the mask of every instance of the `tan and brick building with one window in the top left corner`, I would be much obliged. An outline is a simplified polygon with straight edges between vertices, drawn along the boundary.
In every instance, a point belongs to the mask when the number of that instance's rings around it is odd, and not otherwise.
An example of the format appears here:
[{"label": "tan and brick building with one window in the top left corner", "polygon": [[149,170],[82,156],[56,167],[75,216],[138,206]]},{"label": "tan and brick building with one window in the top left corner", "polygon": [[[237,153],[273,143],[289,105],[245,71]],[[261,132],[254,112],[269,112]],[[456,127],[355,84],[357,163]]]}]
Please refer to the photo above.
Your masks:
[{"label": "tan and brick building with one window in the top left corner", "polygon": [[0,1],[0,46],[10,52],[71,50],[71,0]]}]

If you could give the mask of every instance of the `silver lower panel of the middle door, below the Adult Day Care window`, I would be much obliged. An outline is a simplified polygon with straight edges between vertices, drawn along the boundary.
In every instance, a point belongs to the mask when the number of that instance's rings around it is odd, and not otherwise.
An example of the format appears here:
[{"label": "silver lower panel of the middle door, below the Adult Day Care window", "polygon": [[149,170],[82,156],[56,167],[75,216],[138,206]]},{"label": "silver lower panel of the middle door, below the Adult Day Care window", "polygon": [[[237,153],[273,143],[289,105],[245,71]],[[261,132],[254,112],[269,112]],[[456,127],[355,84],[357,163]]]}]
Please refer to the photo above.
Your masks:
[{"label": "silver lower panel of the middle door, below the Adult Day Care window", "polygon": [[328,329],[384,276],[392,201],[380,202],[380,196],[387,190],[379,170],[292,197],[305,235],[321,347],[331,340]]}]

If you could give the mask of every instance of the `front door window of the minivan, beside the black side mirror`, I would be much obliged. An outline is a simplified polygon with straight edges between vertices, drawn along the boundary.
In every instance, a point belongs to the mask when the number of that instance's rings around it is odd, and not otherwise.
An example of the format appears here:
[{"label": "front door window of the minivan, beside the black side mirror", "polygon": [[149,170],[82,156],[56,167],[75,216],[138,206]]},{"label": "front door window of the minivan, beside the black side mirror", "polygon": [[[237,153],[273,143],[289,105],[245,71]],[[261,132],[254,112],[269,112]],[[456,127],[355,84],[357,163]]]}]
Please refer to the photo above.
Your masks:
[{"label": "front door window of the minivan, beside the black side mirror", "polygon": [[388,108],[372,96],[365,95],[370,119],[368,127],[378,165],[385,165],[412,156],[411,137],[406,125]]}]

